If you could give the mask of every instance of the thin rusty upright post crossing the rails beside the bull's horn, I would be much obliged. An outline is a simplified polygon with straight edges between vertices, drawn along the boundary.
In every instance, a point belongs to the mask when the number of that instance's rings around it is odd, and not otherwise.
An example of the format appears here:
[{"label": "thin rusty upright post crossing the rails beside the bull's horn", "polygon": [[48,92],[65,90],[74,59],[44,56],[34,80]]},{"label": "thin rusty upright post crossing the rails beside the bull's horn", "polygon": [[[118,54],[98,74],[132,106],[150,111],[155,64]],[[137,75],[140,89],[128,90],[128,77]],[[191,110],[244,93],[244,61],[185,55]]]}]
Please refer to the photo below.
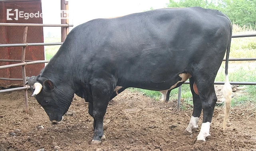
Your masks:
[{"label": "thin rusty upright post crossing the rails beside the bull's horn", "polygon": [[[27,34],[28,34],[28,26],[26,26],[24,28],[24,33],[23,33],[23,43],[27,42]],[[21,57],[21,62],[24,63],[25,62],[25,54],[26,54],[26,46],[22,47],[22,57]],[[23,77],[23,86],[25,87],[25,83],[26,83],[26,69],[25,69],[25,65],[22,66],[22,77]],[[25,97],[25,111],[26,113],[28,113],[28,90],[25,89],[24,90],[24,97]]]}]

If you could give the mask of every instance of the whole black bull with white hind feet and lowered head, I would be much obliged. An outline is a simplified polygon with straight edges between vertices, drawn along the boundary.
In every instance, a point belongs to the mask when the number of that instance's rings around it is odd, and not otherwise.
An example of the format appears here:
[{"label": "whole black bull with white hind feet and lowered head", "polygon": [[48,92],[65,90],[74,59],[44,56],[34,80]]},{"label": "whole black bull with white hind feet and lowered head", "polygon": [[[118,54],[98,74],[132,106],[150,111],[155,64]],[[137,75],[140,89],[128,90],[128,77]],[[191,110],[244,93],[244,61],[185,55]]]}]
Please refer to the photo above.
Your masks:
[{"label": "whole black bull with white hind feet and lowered head", "polygon": [[[183,134],[198,128],[203,110],[197,141],[205,141],[217,101],[214,79],[226,50],[228,60],[231,35],[232,25],[226,15],[199,7],[94,19],[75,27],[28,84],[54,123],[62,121],[74,93],[85,98],[94,118],[91,143],[99,144],[107,105],[118,93],[137,87],[160,91],[168,101],[170,91],[189,79],[194,109]],[[231,87],[227,63],[225,73],[228,109]]]}]

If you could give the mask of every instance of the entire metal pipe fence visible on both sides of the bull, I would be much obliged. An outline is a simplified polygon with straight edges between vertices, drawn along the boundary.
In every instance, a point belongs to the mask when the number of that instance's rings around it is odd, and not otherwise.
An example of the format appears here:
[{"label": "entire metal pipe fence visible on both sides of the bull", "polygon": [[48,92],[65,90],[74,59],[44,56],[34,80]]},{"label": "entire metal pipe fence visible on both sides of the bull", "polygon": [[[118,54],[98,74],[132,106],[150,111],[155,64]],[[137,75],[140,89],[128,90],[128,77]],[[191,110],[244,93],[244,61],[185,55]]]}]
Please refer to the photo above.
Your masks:
[{"label": "entire metal pipe fence visible on both sides of the bull", "polygon": [[[24,26],[24,35],[23,35],[23,43],[22,44],[0,44],[1,47],[18,47],[22,46],[22,60],[8,60],[8,59],[0,59],[2,62],[21,62],[17,64],[10,64],[10,65],[4,65],[0,66],[0,69],[4,68],[12,68],[16,66],[22,66],[22,79],[21,78],[1,78],[1,80],[13,80],[13,81],[23,81],[23,87],[18,88],[12,88],[12,89],[4,89],[0,90],[0,93],[5,92],[11,92],[11,91],[20,91],[24,90],[24,97],[25,97],[25,111],[28,112],[28,92],[27,90],[30,89],[30,86],[25,85],[26,83],[26,70],[25,66],[28,64],[39,64],[39,63],[47,63],[49,60],[25,60],[25,52],[27,46],[50,46],[50,45],[62,45],[62,43],[26,43],[26,35],[28,31],[29,26],[36,26],[36,27],[72,27],[73,25],[69,24],[32,24],[32,23],[0,23],[0,26]],[[67,32],[64,32],[64,36],[67,35],[68,30],[64,30]],[[63,33],[62,33],[63,34]],[[64,37],[62,35],[62,37]],[[240,37],[256,37],[256,33],[253,34],[243,34],[243,35],[232,35],[232,38],[240,38]],[[62,38],[62,41],[64,41],[64,38]],[[255,61],[256,58],[230,58],[229,61]],[[225,59],[223,61],[226,61]],[[189,81],[186,81],[185,84],[189,84]],[[218,81],[214,82],[214,84],[217,85],[223,85],[224,82]],[[256,82],[230,82],[231,85],[256,85]],[[178,101],[177,101],[177,111],[180,111],[180,105],[181,105],[181,86],[179,87],[179,93],[178,93]]]}]

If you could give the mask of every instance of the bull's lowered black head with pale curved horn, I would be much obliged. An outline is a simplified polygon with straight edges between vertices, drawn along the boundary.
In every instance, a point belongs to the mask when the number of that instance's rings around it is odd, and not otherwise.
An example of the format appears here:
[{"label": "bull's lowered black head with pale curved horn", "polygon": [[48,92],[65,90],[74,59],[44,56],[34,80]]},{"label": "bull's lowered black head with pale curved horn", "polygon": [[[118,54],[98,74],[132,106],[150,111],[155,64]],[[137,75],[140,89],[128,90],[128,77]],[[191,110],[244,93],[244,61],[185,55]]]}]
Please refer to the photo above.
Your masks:
[{"label": "bull's lowered black head with pale curved horn", "polygon": [[59,91],[50,79],[32,76],[26,84],[30,85],[33,91],[32,96],[44,108],[52,124],[60,123],[71,105],[73,97],[70,97],[70,95],[68,97],[65,94],[65,88]]}]

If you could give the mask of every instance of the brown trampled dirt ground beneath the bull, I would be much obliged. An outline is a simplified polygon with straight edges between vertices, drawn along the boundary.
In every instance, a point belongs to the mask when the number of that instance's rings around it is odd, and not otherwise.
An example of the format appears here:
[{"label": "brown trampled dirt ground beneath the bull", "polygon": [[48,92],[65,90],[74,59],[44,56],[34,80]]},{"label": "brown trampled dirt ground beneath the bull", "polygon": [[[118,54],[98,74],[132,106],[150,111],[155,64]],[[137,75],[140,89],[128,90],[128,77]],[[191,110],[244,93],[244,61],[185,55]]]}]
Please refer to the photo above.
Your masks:
[{"label": "brown trampled dirt ground beneath the bull", "polygon": [[[99,146],[89,145],[93,118],[87,107],[83,99],[75,96],[69,108],[72,115],[65,116],[61,124],[52,125],[34,97],[29,97],[30,111],[26,114],[23,91],[0,94],[0,151],[256,151],[253,105],[232,108],[225,131],[223,107],[216,107],[211,137],[198,144],[195,140],[199,130],[191,136],[182,134],[189,124],[191,106],[177,112],[176,100],[163,104],[125,90],[109,103],[104,119],[106,139]],[[199,128],[201,123],[202,116]]]}]

